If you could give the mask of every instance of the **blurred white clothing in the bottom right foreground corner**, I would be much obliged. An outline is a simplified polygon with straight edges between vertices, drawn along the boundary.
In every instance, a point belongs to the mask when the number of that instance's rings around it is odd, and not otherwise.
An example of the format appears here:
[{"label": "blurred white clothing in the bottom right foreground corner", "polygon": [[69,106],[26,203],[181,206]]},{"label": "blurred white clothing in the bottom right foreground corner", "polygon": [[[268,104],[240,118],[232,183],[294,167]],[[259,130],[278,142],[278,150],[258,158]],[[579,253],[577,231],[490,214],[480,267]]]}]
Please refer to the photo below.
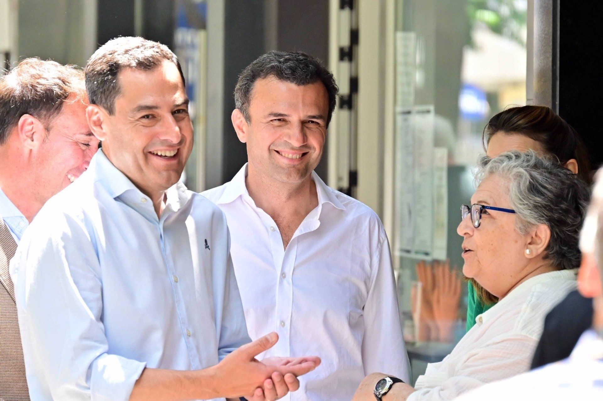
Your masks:
[{"label": "blurred white clothing in the bottom right foreground corner", "polygon": [[484,385],[458,400],[603,400],[603,339],[586,331],[569,358]]}]

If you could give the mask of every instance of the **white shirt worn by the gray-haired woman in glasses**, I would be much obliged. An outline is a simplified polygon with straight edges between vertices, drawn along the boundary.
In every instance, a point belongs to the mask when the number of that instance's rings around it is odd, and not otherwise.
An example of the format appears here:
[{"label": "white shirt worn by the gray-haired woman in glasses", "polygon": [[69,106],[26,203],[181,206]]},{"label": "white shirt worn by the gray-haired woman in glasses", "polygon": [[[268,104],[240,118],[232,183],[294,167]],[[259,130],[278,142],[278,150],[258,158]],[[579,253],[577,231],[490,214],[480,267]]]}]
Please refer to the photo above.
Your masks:
[{"label": "white shirt worn by the gray-haired woman in glasses", "polygon": [[546,314],[576,288],[576,271],[534,276],[476,317],[443,361],[428,364],[408,401],[452,400],[482,384],[529,370]]}]

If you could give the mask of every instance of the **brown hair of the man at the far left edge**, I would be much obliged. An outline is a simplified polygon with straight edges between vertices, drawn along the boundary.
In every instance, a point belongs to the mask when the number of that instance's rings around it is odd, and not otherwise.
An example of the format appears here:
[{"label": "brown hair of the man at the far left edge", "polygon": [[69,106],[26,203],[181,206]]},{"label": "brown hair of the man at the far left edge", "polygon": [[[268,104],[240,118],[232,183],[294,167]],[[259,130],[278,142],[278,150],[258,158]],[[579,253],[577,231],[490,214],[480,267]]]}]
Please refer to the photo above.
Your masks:
[{"label": "brown hair of the man at the far left edge", "polygon": [[50,129],[70,95],[86,99],[84,73],[77,67],[39,58],[22,60],[0,78],[0,145],[25,114]]}]

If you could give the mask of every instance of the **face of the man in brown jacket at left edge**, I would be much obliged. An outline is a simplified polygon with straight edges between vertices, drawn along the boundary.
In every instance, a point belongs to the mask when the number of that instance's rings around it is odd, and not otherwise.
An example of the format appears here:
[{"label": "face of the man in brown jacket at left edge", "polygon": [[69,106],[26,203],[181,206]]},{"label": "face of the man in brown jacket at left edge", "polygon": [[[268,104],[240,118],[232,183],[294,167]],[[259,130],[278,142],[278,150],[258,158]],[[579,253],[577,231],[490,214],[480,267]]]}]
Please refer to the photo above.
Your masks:
[{"label": "face of the man in brown jacket at left edge", "polygon": [[40,174],[36,187],[41,201],[77,179],[98,150],[98,139],[86,122],[86,107],[86,102],[71,95],[48,125],[34,162]]}]

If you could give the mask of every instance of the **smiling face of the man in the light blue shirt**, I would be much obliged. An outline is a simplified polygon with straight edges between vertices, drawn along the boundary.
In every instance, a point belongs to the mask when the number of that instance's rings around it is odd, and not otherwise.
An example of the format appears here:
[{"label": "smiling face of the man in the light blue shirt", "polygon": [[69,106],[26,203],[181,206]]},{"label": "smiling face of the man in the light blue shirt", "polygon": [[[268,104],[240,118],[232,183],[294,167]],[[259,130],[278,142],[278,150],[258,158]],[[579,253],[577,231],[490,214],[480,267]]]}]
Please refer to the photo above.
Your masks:
[{"label": "smiling face of the man in the light blue shirt", "polygon": [[191,154],[185,87],[177,66],[167,60],[151,70],[121,70],[118,79],[115,114],[92,105],[90,125],[115,167],[156,199],[180,179]]}]

